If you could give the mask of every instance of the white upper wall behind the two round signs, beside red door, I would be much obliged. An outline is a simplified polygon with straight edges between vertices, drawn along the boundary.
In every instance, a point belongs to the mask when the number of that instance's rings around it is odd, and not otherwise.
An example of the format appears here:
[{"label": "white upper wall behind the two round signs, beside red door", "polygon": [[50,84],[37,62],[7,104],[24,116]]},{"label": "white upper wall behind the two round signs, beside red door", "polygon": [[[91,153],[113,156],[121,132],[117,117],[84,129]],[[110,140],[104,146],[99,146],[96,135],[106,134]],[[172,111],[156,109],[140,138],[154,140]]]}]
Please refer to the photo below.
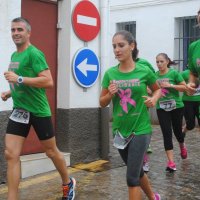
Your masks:
[{"label": "white upper wall behind the two round signs, beside red door", "polygon": [[[62,109],[99,107],[100,79],[92,87],[83,89],[73,77],[73,58],[80,48],[87,46],[100,58],[100,32],[92,41],[84,43],[73,30],[71,17],[78,2],[80,1],[59,1],[59,22],[62,28],[58,35],[57,107]],[[91,2],[100,13],[100,1],[92,0]]]}]

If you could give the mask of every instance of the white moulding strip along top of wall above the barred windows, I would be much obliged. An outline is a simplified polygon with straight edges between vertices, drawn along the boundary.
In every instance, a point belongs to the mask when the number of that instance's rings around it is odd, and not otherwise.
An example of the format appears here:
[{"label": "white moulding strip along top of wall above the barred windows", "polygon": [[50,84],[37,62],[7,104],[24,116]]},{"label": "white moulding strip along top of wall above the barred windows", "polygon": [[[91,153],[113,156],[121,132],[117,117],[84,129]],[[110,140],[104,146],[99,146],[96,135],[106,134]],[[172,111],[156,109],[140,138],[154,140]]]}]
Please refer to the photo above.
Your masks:
[{"label": "white moulding strip along top of wall above the barred windows", "polygon": [[137,7],[147,7],[147,6],[154,6],[154,5],[163,5],[163,4],[171,4],[171,3],[180,3],[184,1],[193,1],[193,0],[153,0],[153,1],[141,1],[141,2],[136,2],[136,3],[129,3],[129,4],[120,4],[120,5],[114,5],[110,7],[111,11],[116,11],[116,10],[126,10],[126,9],[132,9],[132,8],[137,8]]}]

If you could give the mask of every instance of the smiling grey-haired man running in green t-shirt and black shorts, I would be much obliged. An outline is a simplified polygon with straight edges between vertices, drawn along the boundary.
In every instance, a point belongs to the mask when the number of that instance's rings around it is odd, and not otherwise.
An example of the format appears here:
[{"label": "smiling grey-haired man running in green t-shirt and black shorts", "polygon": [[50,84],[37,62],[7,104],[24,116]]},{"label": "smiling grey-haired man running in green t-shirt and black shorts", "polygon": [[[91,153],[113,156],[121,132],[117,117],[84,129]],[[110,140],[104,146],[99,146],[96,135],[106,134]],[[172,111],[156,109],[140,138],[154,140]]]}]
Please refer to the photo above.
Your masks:
[{"label": "smiling grey-haired man running in green t-shirt and black shorts", "polygon": [[51,72],[44,54],[30,43],[31,26],[24,18],[15,18],[11,23],[11,35],[17,51],[11,56],[5,79],[10,90],[2,92],[1,98],[13,99],[13,111],[5,136],[7,160],[8,200],[18,199],[20,180],[20,153],[33,126],[47,156],[53,161],[63,182],[62,199],[74,199],[76,181],[68,176],[66,162],[55,141],[51,111],[46,88],[53,87]]}]

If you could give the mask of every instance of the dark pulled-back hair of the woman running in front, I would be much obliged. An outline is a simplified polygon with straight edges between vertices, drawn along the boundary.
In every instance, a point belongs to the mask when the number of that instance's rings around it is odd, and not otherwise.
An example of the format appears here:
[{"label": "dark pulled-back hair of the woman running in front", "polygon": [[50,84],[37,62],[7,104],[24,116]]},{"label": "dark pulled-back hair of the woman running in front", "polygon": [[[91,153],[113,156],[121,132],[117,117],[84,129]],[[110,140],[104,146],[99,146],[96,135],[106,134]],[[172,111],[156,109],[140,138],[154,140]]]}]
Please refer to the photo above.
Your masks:
[{"label": "dark pulled-back hair of the woman running in front", "polygon": [[133,49],[132,51],[132,58],[134,61],[136,61],[137,57],[138,57],[138,53],[139,53],[139,50],[137,49],[137,42],[135,40],[135,38],[133,37],[133,35],[128,32],[128,31],[125,31],[125,30],[122,30],[122,31],[118,31],[114,34],[113,38],[117,35],[121,35],[124,37],[124,39],[129,43],[129,44],[132,44],[134,43],[135,45],[135,48]]}]

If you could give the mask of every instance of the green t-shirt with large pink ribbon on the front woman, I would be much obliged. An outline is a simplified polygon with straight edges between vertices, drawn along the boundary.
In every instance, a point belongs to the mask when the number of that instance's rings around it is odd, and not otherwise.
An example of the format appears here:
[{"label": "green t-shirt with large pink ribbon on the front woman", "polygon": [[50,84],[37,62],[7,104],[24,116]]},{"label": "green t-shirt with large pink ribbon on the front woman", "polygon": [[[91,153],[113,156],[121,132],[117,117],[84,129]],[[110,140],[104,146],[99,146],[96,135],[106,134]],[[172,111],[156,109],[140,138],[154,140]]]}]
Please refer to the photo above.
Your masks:
[{"label": "green t-shirt with large pink ribbon on the front woman", "polygon": [[151,122],[143,95],[147,96],[147,85],[156,82],[155,75],[147,68],[136,63],[133,71],[123,73],[119,65],[106,71],[102,87],[108,88],[110,82],[116,83],[119,90],[112,98],[113,134],[119,131],[124,137],[151,134]]}]

